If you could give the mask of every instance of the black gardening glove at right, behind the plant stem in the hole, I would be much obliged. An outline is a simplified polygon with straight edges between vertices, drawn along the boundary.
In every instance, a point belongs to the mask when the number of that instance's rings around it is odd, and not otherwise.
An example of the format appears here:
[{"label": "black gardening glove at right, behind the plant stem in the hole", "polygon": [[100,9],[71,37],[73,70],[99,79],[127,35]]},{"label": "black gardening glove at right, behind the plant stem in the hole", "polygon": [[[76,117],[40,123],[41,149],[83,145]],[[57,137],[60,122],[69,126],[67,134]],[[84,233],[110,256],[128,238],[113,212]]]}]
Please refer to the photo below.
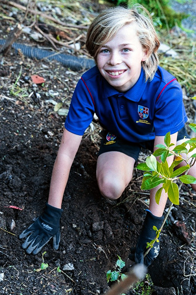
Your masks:
[{"label": "black gardening glove at right, behind the plant stem in the hole", "polygon": [[[158,256],[160,251],[160,242],[155,242],[153,248],[150,249],[147,256],[144,257],[145,252],[147,251],[147,242],[149,243],[156,237],[156,231],[153,230],[153,226],[156,226],[159,230],[164,217],[154,216],[149,210],[147,210],[147,215],[143,224],[142,231],[138,238],[136,250],[135,250],[135,262],[145,264],[149,266],[152,261]],[[160,241],[160,236],[159,236]],[[131,254],[129,256],[131,258]]]}]

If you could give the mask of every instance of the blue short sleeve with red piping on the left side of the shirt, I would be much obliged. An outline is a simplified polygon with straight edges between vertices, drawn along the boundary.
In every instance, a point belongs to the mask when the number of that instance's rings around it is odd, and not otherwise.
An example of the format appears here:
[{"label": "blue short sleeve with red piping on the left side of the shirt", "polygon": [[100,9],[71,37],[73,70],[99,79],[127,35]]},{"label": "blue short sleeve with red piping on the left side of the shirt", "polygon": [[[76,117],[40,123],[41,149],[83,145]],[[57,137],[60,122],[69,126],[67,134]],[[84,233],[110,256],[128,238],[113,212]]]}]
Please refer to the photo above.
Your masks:
[{"label": "blue short sleeve with red piping on the left side of the shirt", "polygon": [[65,128],[77,135],[83,135],[95,113],[93,97],[82,79],[73,92]]}]

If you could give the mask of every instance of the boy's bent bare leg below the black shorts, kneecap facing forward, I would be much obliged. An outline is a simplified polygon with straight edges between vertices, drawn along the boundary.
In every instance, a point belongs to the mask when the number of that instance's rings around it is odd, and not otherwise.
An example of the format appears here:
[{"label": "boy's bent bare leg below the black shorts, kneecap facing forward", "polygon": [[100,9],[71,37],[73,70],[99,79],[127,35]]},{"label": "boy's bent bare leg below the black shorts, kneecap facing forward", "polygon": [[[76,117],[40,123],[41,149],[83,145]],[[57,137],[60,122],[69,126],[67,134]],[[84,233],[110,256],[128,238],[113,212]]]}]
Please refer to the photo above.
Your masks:
[{"label": "boy's bent bare leg below the black shorts, kneecap facing forward", "polygon": [[129,184],[135,160],[122,152],[109,151],[98,156],[97,180],[100,193],[118,199]]}]

